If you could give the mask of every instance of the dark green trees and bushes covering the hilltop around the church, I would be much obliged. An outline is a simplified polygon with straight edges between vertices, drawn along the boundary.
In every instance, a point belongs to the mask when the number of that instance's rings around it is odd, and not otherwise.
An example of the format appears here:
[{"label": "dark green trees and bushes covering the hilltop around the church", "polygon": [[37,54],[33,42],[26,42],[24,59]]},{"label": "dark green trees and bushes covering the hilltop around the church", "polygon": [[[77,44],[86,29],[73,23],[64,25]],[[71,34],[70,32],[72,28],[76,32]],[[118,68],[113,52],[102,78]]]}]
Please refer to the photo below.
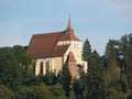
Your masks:
[{"label": "dark green trees and bushes covering the hilltop around the church", "polygon": [[72,88],[67,64],[57,76],[35,76],[24,47],[0,47],[0,99],[132,99],[132,34],[109,40],[103,56],[86,40],[82,59],[88,72]]}]

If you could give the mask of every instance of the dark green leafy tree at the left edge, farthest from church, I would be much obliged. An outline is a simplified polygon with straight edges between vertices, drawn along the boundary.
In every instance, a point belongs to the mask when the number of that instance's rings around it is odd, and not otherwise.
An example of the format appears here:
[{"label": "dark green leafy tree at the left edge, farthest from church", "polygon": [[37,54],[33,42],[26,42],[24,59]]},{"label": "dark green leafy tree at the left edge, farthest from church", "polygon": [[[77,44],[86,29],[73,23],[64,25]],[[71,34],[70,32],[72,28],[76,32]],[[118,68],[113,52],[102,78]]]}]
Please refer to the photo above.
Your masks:
[{"label": "dark green leafy tree at the left edge, farthest from church", "polygon": [[22,84],[22,74],[11,47],[0,48],[0,84],[14,89]]}]

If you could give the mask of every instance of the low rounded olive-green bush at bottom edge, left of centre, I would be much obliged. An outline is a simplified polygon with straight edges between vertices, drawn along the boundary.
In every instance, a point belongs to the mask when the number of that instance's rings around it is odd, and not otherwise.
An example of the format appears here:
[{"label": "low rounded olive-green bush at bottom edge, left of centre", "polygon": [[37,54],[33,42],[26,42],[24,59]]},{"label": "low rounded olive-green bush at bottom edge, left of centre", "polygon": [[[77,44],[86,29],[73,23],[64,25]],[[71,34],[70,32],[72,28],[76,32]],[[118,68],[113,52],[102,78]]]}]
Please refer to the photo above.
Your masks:
[{"label": "low rounded olive-green bush at bottom edge, left of centre", "polygon": [[54,99],[45,85],[20,87],[15,95],[18,99]]}]

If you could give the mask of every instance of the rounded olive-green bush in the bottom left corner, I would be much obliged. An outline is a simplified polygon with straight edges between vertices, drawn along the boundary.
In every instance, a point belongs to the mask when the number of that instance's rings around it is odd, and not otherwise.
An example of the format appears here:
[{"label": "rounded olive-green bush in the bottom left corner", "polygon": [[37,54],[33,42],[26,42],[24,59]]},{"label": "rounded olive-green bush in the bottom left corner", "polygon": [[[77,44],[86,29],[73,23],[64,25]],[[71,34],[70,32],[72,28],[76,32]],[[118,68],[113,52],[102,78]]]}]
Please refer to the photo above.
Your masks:
[{"label": "rounded olive-green bush in the bottom left corner", "polygon": [[3,85],[0,85],[0,99],[15,99],[15,96],[12,90]]}]

